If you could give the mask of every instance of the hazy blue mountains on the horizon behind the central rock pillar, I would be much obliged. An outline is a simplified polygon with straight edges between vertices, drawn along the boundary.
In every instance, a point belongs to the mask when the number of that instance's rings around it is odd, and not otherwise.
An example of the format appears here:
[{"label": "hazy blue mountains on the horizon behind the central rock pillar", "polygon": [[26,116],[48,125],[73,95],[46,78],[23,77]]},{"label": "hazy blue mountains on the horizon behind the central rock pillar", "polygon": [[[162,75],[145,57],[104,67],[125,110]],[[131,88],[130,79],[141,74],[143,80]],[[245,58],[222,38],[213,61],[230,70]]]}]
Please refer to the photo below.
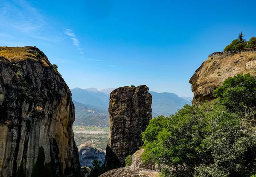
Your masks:
[{"label": "hazy blue mountains on the horizon behind the central rock pillar", "polygon": [[[76,120],[74,125],[109,126],[109,96],[115,88],[98,90],[97,88],[73,88],[72,99],[75,105]],[[192,97],[178,97],[174,93],[157,93],[149,91],[153,97],[152,116],[169,116],[191,104]]]}]

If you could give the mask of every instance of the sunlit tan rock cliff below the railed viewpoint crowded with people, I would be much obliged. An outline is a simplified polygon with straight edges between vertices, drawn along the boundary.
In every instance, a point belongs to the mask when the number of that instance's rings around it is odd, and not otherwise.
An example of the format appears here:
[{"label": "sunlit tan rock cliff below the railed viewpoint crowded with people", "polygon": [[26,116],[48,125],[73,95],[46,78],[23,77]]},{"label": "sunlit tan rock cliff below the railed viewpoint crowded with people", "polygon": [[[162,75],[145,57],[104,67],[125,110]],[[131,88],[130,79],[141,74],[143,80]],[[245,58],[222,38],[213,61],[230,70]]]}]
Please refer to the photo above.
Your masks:
[{"label": "sunlit tan rock cliff below the railed viewpoint crowded with people", "polygon": [[189,80],[195,100],[213,100],[212,91],[228,77],[250,73],[256,76],[256,53],[224,54],[209,57]]}]

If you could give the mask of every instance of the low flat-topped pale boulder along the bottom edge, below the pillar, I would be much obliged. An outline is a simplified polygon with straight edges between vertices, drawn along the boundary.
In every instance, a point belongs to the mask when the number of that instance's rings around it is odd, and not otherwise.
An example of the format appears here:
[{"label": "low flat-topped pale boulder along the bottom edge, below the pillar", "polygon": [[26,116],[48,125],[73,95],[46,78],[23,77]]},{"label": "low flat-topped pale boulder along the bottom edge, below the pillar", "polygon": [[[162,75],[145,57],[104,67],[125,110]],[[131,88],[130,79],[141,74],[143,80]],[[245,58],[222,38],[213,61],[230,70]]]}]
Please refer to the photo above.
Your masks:
[{"label": "low flat-topped pale boulder along the bottom edge, below the pillar", "polygon": [[159,172],[144,168],[126,167],[108,171],[99,177],[158,177]]}]

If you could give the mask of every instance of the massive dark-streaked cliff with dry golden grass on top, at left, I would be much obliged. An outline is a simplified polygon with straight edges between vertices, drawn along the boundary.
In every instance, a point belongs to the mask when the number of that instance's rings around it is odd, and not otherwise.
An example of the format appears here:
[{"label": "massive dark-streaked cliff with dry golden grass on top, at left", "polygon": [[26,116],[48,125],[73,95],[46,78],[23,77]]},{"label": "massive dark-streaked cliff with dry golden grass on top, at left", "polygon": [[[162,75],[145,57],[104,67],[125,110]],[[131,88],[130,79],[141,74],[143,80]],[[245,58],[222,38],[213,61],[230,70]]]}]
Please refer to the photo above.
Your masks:
[{"label": "massive dark-streaked cliff with dry golden grass on top, at left", "polygon": [[56,176],[80,174],[74,120],[70,89],[43,52],[0,47],[0,177],[18,167],[30,177],[39,146]]}]

